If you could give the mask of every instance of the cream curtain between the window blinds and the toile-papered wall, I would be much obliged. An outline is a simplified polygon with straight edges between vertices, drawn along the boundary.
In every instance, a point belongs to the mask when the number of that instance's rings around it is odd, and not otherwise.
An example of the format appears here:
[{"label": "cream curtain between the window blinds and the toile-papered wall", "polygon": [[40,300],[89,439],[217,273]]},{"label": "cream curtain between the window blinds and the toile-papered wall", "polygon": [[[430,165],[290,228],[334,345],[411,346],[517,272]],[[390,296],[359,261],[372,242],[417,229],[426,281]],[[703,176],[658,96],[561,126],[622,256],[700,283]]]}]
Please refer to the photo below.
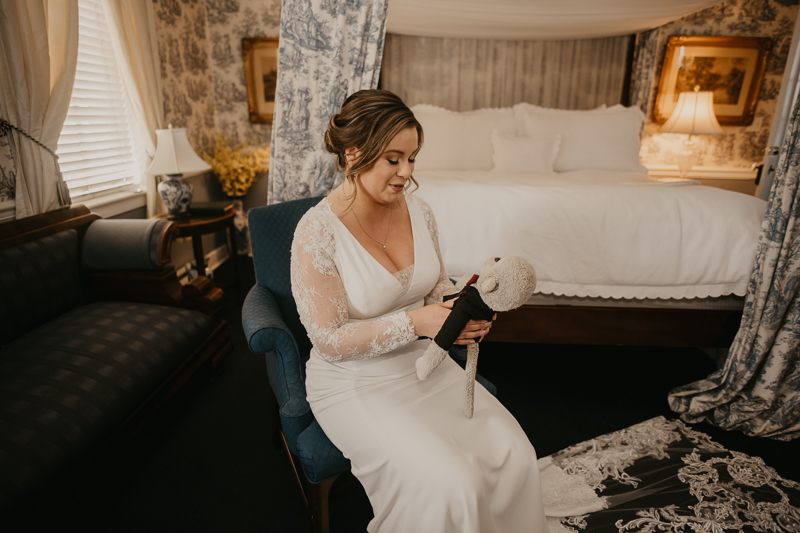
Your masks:
[{"label": "cream curtain between the window blinds and the toile-papered wall", "polygon": [[[147,154],[146,168],[156,153],[156,130],[164,127],[153,3],[103,0],[103,8],[136,134]],[[146,183],[147,216],[165,211],[156,190],[155,176],[147,176]]]}]

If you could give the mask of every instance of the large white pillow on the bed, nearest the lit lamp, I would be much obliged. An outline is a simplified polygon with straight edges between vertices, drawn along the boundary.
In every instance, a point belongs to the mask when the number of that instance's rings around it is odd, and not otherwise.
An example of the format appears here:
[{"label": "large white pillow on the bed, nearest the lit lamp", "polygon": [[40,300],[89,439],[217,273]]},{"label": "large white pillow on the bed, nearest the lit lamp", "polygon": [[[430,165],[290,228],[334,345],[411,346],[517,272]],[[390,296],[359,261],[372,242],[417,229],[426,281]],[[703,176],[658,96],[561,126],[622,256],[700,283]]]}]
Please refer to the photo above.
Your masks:
[{"label": "large white pillow on the bed, nearest the lit lamp", "polygon": [[638,107],[547,113],[515,109],[520,134],[561,135],[554,163],[557,172],[581,169],[647,172],[639,161],[644,113]]}]

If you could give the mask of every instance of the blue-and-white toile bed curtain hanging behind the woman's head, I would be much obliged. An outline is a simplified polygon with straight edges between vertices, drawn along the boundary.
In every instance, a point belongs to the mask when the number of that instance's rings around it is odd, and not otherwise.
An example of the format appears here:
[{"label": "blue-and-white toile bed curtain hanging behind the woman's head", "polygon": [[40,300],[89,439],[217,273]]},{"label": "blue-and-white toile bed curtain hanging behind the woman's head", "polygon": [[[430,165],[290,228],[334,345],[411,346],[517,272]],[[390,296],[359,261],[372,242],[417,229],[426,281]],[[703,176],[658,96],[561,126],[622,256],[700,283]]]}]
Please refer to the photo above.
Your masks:
[{"label": "blue-and-white toile bed curtain hanging behind the woman's head", "polygon": [[323,135],[344,99],[378,85],[388,0],[284,0],[267,202],[338,183]]}]

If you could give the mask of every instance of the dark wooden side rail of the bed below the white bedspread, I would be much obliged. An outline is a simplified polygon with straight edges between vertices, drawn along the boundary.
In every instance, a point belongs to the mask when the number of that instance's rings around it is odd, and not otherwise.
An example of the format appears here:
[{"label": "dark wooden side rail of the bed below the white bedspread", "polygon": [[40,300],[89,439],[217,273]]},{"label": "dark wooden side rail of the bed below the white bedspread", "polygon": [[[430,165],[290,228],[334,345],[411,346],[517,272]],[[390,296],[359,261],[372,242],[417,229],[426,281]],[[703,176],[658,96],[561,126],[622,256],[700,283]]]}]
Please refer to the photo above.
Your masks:
[{"label": "dark wooden side rail of the bed below the white bedspread", "polygon": [[492,342],[724,348],[742,310],[525,305],[501,313]]}]

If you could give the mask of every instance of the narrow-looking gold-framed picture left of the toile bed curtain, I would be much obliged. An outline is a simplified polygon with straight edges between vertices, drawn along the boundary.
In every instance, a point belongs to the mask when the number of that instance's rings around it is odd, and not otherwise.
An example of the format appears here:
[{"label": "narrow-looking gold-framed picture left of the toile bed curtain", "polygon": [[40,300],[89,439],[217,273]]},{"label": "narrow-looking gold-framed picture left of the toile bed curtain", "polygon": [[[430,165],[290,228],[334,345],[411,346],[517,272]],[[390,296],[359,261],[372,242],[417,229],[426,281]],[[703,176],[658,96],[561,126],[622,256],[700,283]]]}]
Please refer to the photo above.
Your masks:
[{"label": "narrow-looking gold-framed picture left of the toile bed curtain", "polygon": [[277,37],[242,39],[242,57],[250,122],[271,124],[278,83]]}]

